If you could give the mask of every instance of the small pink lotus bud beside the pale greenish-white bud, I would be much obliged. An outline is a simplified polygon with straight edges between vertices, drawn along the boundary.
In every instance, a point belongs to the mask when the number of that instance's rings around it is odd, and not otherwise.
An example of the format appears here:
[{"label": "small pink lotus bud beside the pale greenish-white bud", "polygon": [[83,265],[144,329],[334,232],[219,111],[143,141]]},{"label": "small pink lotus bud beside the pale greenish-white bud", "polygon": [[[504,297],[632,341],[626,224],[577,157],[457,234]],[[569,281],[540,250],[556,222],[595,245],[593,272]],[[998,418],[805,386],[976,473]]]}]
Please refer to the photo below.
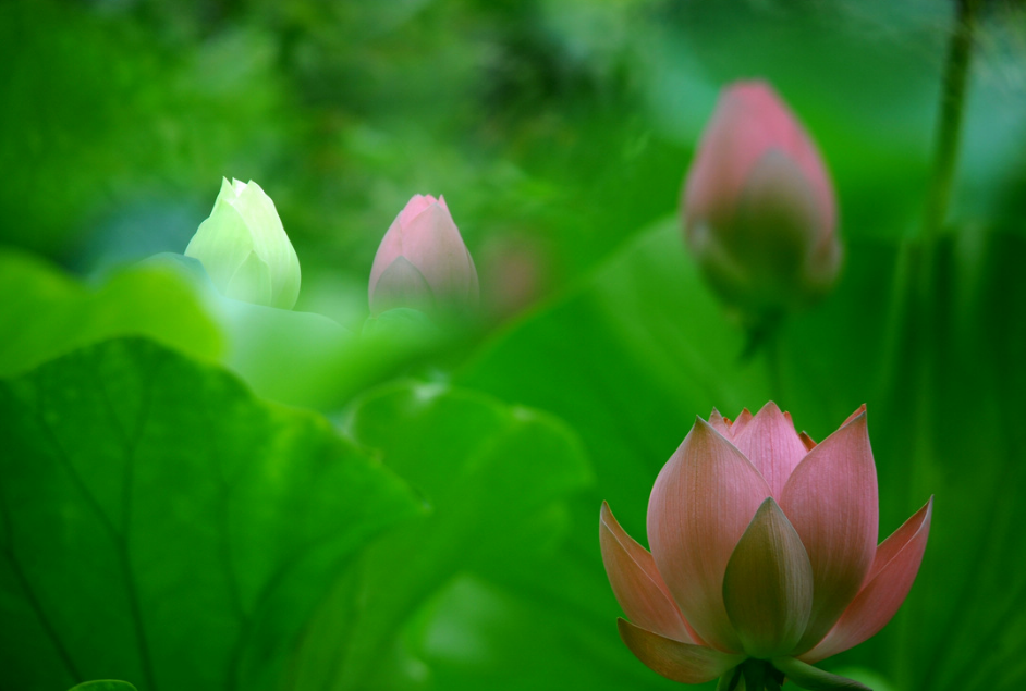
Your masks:
[{"label": "small pink lotus bud beside the pale greenish-white bud", "polygon": [[416,195],[384,234],[370,268],[370,313],[398,307],[425,312],[477,307],[477,270],[445,199]]}]

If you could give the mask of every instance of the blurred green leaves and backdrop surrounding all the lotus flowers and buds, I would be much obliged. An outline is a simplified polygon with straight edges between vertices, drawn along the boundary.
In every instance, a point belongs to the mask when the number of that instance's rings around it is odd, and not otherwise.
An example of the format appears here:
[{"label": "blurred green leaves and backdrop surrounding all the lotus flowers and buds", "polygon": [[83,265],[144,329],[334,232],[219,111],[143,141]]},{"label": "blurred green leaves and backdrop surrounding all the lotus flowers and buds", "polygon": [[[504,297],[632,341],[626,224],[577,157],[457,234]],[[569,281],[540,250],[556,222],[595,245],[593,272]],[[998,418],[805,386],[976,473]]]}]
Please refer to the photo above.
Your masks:
[{"label": "blurred green leaves and backdrop surrounding all the lotus flowers and buds", "polygon": [[[0,689],[671,688],[619,640],[600,503],[644,542],[694,416],[770,398],[817,440],[868,404],[881,539],[936,495],[908,601],[823,667],[1021,688],[1026,10],[981,3],[924,237],[953,12],[0,3]],[[719,89],[752,77],[817,140],[846,249],[777,365],[740,358],[677,221]],[[184,250],[222,176],[274,200],[295,313],[137,263]],[[445,196],[486,317],[368,347],[414,194]]]}]

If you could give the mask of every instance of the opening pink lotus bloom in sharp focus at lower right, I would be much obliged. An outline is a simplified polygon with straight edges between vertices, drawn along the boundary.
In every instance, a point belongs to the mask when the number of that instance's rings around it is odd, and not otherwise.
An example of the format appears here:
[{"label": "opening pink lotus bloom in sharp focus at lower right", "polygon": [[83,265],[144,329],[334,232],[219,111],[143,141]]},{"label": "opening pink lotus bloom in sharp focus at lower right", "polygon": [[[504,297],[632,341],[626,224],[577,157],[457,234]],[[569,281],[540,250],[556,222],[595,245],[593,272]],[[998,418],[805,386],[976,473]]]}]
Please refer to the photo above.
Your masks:
[{"label": "opening pink lotus bloom in sharp focus at lower right", "polygon": [[[656,480],[651,553],[603,505],[602,559],[630,621],[620,634],[684,683],[863,689],[811,663],[879,631],[901,606],[930,530],[926,506],[877,545],[865,406],[819,444],[768,403],[700,418]],[[743,686],[742,686],[743,682]]]}]

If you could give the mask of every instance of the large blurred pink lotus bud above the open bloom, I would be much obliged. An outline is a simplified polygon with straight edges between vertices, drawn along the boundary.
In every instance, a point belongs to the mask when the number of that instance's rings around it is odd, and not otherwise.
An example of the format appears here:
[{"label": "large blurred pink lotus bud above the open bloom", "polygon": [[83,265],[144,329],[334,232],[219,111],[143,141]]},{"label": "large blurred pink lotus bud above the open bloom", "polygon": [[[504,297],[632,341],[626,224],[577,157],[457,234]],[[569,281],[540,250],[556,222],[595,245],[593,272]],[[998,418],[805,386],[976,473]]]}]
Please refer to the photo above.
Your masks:
[{"label": "large blurred pink lotus bud above the open bloom", "polygon": [[805,129],[764,82],[720,96],[684,186],[687,245],[749,320],[825,295],[841,264],[833,186]]}]

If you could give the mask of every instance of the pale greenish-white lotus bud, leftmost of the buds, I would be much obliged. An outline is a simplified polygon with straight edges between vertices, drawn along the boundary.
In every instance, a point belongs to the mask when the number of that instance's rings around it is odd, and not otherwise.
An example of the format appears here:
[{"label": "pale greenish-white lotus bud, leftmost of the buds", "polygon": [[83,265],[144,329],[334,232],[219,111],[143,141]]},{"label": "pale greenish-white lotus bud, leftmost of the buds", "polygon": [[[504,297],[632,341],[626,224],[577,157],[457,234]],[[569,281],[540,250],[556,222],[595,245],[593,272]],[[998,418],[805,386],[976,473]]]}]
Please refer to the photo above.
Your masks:
[{"label": "pale greenish-white lotus bud, leftmost of the buds", "polygon": [[300,296],[300,259],[274,202],[253,181],[222,181],[213,210],[185,256],[198,259],[228,297],[292,309]]}]

